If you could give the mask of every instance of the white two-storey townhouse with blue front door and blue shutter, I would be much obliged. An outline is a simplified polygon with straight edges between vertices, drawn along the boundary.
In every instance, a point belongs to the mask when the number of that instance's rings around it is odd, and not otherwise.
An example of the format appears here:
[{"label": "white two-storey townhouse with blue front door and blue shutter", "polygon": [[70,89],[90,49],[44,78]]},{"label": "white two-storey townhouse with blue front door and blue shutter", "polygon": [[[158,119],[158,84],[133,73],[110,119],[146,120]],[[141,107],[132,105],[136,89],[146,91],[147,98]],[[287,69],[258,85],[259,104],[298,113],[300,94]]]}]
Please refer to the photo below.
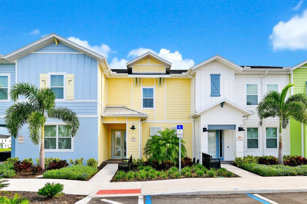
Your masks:
[{"label": "white two-storey townhouse with blue front door and blue shutter", "polygon": [[[258,125],[258,102],[269,90],[289,83],[288,67],[239,66],[216,55],[191,67],[193,156],[201,153],[222,161],[247,155],[278,156],[279,119]],[[289,127],[283,130],[283,153],[290,154]]]}]

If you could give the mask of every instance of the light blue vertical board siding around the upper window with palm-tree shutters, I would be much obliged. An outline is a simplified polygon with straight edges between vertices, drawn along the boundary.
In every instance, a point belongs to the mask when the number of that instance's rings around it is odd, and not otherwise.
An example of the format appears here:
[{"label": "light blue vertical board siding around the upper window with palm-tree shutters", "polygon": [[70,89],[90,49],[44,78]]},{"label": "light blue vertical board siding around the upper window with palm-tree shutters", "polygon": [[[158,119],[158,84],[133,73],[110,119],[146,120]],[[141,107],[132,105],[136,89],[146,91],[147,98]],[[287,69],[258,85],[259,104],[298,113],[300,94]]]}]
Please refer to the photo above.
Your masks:
[{"label": "light blue vertical board siding around the upper window with palm-tree shutters", "polygon": [[74,99],[97,100],[97,60],[85,54],[30,53],[17,60],[17,81],[39,86],[40,74],[74,74]]}]

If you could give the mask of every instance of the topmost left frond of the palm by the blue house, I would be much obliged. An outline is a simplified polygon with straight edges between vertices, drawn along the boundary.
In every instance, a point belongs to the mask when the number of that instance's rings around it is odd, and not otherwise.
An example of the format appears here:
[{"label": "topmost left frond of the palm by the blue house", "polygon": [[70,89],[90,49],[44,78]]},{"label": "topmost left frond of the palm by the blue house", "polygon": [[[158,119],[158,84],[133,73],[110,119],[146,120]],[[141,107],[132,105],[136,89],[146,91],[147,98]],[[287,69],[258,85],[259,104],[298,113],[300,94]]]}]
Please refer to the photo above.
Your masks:
[{"label": "topmost left frond of the palm by the blue house", "polygon": [[19,99],[19,96],[25,96],[25,99],[29,99],[30,103],[38,103],[39,88],[30,83],[17,83],[12,86],[10,90],[11,99],[15,102]]}]

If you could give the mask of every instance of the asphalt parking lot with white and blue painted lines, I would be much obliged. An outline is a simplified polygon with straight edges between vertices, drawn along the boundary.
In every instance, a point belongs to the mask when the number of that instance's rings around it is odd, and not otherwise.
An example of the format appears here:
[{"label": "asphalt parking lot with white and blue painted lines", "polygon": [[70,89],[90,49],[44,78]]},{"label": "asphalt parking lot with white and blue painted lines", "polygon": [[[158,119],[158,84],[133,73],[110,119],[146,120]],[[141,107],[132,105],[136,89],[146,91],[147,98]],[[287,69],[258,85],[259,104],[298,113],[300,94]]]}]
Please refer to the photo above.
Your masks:
[{"label": "asphalt parking lot with white and blue painted lines", "polygon": [[154,195],[128,197],[94,197],[89,204],[204,204],[204,203],[280,203],[306,204],[307,193],[268,193],[268,194],[231,194],[231,195]]}]

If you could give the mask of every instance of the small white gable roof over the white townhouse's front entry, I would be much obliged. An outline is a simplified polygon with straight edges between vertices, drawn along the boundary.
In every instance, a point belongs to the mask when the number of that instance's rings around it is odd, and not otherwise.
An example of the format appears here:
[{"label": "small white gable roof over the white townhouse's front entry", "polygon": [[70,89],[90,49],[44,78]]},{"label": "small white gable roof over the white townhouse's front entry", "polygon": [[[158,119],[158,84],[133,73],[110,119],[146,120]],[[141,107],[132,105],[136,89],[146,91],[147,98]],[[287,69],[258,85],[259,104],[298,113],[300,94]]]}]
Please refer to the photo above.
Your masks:
[{"label": "small white gable roof over the white townhouse's front entry", "polygon": [[250,115],[254,115],[254,111],[248,109],[248,108],[245,108],[235,102],[232,102],[230,100],[227,100],[226,98],[222,98],[220,100],[217,100],[217,101],[214,101],[213,103],[211,104],[208,104],[202,108],[199,108],[197,109],[194,113],[192,113],[191,115],[188,116],[188,118],[192,118],[192,117],[198,117],[200,113],[210,109],[210,108],[213,108],[214,106],[218,105],[218,104],[221,104],[222,102],[224,102],[225,104],[229,105],[230,107],[232,108],[235,108],[237,109],[238,111],[241,111],[244,116],[250,116]]}]

